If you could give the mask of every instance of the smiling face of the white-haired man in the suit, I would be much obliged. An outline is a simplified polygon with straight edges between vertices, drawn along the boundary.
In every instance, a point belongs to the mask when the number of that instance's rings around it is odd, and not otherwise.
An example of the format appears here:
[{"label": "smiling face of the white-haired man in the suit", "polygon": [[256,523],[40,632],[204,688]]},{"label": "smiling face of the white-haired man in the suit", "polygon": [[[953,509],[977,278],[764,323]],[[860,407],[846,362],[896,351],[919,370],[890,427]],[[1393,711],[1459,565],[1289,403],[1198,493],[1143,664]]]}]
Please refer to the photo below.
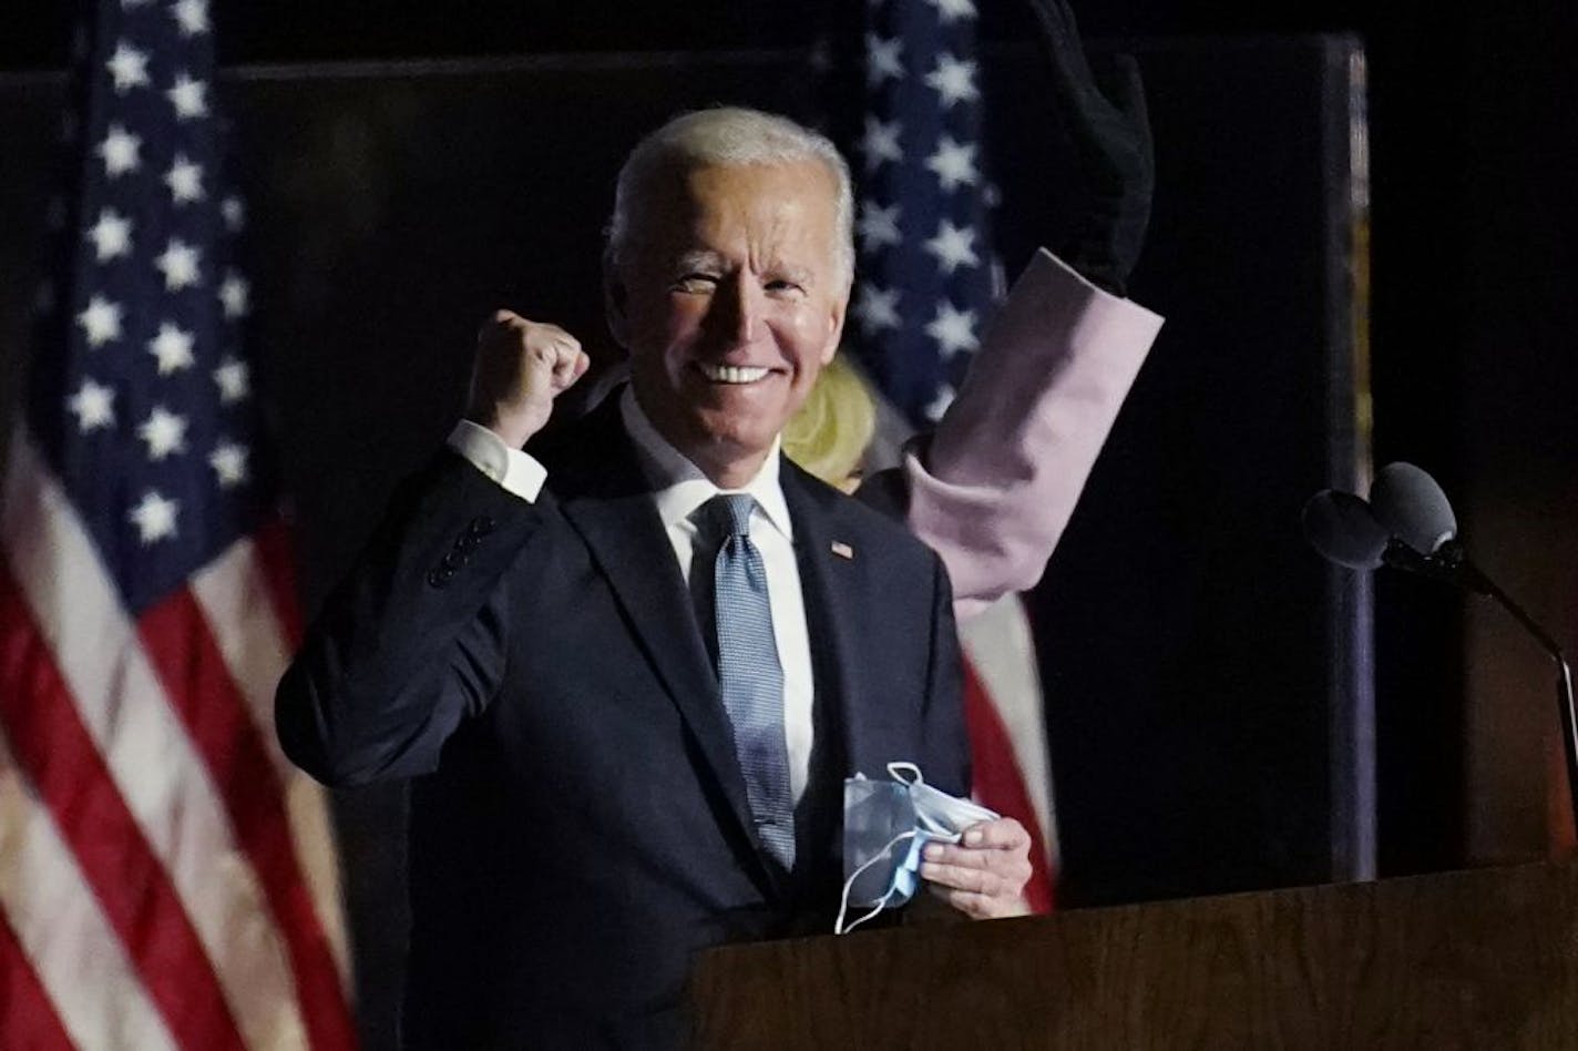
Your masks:
[{"label": "smiling face of the white-haired man in the suit", "polygon": [[636,399],[721,486],[756,473],[838,349],[836,193],[819,161],[672,172],[609,275]]}]

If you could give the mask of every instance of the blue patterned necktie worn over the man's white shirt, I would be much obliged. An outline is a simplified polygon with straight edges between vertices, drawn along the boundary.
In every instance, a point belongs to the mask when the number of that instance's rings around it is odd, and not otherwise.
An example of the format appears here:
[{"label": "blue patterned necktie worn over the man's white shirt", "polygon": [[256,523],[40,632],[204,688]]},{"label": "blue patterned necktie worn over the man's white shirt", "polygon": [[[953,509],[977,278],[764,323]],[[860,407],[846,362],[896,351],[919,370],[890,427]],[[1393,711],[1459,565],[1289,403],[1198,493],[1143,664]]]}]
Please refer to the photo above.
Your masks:
[{"label": "blue patterned necktie worn over the man's white shirt", "polygon": [[794,799],[784,745],[784,672],[778,663],[767,568],[751,543],[756,499],[718,494],[701,508],[701,527],[718,544],[713,562],[713,623],[718,685],[734,726],[734,753],[756,833],[784,868],[794,868]]}]

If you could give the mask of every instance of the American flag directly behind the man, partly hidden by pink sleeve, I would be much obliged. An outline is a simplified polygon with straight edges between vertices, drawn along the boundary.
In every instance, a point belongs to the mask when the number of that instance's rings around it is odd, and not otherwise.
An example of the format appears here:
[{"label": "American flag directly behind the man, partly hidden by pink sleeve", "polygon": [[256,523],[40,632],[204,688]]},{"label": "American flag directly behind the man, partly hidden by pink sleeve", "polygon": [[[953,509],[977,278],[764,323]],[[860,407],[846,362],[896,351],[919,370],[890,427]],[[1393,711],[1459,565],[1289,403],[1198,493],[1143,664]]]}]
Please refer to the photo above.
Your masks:
[{"label": "American flag directly behind the man, partly hidden by pink sleeve", "polygon": [[[1002,289],[991,248],[972,0],[874,0],[865,22],[857,353],[914,426],[936,423]],[[1016,597],[959,625],[975,797],[1035,840],[1053,903],[1054,814],[1035,650]]]}]

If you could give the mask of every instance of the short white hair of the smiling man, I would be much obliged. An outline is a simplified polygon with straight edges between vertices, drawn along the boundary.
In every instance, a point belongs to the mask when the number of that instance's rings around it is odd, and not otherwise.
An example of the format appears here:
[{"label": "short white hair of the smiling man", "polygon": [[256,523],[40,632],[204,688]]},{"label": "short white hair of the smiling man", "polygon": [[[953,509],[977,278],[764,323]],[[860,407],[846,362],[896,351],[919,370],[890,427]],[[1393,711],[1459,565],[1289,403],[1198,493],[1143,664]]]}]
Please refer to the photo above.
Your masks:
[{"label": "short white hair of the smiling man", "polygon": [[825,136],[787,117],[740,106],[680,114],[636,144],[619,169],[606,259],[614,265],[623,262],[631,230],[639,223],[638,211],[656,178],[675,169],[800,161],[822,163],[838,183],[833,202],[838,267],[843,279],[851,281],[855,273],[855,197],[849,164]]}]

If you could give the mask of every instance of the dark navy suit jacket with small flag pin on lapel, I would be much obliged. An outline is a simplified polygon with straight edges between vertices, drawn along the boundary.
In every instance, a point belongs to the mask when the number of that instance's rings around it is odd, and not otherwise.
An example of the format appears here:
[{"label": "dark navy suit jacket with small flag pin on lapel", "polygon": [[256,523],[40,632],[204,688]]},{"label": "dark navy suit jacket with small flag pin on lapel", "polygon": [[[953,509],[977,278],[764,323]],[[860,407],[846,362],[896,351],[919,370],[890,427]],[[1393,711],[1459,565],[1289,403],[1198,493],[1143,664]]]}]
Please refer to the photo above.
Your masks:
[{"label": "dark navy suit jacket with small flag pin on lapel", "polygon": [[609,398],[521,500],[443,453],[279,685],[328,784],[415,776],[409,1046],[663,1046],[693,955],[828,931],[843,778],[969,787],[947,574],[784,462],[816,683],[794,873],[757,846],[718,680]]}]

